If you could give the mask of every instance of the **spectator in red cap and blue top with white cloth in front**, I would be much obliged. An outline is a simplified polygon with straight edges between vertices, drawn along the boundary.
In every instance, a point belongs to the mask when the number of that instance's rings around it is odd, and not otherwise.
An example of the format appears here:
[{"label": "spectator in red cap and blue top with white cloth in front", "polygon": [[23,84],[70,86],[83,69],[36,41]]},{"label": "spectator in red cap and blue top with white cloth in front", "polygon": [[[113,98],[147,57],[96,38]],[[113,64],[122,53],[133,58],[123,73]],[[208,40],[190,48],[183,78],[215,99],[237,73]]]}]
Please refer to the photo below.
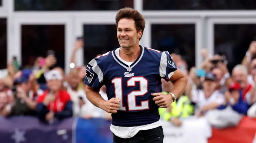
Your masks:
[{"label": "spectator in red cap and blue top with white cloth in front", "polygon": [[232,83],[225,93],[225,102],[216,110],[206,115],[209,123],[215,128],[236,126],[246,115],[249,104],[243,100],[242,87],[239,83]]}]

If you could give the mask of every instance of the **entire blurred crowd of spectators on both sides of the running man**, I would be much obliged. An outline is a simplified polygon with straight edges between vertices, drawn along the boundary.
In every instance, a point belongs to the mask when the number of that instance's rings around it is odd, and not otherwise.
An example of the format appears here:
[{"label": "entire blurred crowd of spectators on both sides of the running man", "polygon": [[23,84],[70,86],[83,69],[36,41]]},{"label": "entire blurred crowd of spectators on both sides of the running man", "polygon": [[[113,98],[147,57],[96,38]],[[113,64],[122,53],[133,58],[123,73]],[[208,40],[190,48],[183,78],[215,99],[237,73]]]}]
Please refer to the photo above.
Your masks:
[{"label": "entire blurred crowd of spectators on both sides of the running man", "polygon": [[[71,64],[76,65],[76,52],[83,46],[83,40],[76,41]],[[225,55],[209,57],[205,49],[202,55],[201,67],[188,69],[181,55],[171,54],[189,82],[183,95],[170,107],[159,109],[161,118],[180,126],[183,118],[194,115],[205,117],[216,128],[236,126],[244,115],[256,118],[256,41],[230,73]],[[86,99],[85,72],[86,66],[73,66],[65,74],[56,66],[53,51],[45,58],[38,57],[32,67],[21,69],[13,59],[7,69],[0,70],[0,116],[35,116],[45,123],[73,116],[111,120],[110,113]],[[167,94],[172,84],[162,80],[162,87]],[[100,94],[108,100],[105,86]]]}]

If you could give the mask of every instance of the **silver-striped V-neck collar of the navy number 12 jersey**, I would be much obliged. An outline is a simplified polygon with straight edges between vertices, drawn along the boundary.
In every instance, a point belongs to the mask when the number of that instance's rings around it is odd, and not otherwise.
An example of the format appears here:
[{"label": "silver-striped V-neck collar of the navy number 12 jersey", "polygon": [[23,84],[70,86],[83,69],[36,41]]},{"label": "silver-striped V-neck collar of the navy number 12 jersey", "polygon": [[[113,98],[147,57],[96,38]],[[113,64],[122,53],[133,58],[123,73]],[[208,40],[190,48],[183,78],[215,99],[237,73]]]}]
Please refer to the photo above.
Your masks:
[{"label": "silver-striped V-neck collar of the navy number 12 jersey", "polygon": [[143,47],[143,46],[140,46],[140,45],[139,45],[139,47],[140,47],[140,54],[139,54],[138,58],[137,58],[130,66],[126,65],[124,62],[122,62],[122,61],[117,57],[117,55],[116,55],[116,53],[115,53],[115,50],[117,50],[117,48],[112,51],[113,58],[115,59],[115,61],[116,61],[119,65],[121,65],[122,67],[126,68],[127,71],[130,72],[131,69],[139,63],[140,59],[142,58],[142,56],[143,56],[143,54],[144,54],[144,47]]}]

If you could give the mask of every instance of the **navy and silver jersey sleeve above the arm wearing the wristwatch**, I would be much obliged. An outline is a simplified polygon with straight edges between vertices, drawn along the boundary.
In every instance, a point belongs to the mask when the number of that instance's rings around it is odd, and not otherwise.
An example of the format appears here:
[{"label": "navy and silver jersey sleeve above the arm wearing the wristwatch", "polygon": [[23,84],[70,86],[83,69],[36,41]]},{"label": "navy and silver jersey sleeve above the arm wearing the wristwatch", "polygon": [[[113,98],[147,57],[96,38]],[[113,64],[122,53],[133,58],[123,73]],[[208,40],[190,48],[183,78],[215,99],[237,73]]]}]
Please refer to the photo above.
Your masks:
[{"label": "navy and silver jersey sleeve above the arm wearing the wristwatch", "polygon": [[159,74],[162,78],[168,81],[174,72],[177,70],[177,66],[173,61],[173,58],[169,52],[164,51],[161,56]]}]

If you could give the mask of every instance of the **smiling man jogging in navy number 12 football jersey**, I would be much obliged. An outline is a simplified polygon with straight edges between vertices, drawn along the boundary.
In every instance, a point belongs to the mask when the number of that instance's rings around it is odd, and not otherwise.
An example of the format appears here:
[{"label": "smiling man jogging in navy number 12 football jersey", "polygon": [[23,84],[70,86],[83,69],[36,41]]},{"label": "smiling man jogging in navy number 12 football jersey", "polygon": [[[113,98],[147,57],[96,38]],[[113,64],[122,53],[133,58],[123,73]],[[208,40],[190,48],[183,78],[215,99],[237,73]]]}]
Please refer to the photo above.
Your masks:
[{"label": "smiling man jogging in navy number 12 football jersey", "polygon": [[[120,48],[94,58],[86,68],[86,97],[112,113],[114,143],[163,143],[158,108],[167,108],[185,89],[187,79],[168,52],[139,45],[145,28],[143,16],[124,8],[116,15]],[[173,83],[162,94],[161,78]],[[99,94],[107,87],[108,101]]]}]

